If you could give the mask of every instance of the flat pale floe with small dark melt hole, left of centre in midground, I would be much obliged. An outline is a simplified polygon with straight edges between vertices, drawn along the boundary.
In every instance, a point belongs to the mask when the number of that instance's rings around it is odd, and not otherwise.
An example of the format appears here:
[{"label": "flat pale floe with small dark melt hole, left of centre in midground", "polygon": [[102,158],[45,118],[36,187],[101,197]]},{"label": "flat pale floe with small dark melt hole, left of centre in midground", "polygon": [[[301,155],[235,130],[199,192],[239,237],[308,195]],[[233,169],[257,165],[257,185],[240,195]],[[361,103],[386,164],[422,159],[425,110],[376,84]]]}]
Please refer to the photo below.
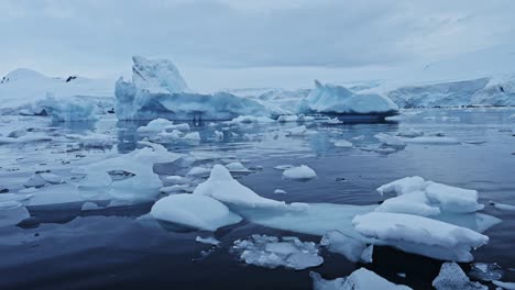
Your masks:
[{"label": "flat pale floe with small dark melt hole, left of centre in midground", "polygon": [[[85,174],[78,189],[86,200],[117,199],[129,202],[153,200],[163,186],[153,167],[158,163],[171,163],[179,158],[179,154],[169,153],[162,145],[153,143],[113,158],[81,166],[74,169],[76,174]],[[110,172],[127,171],[128,178],[113,180]]]}]

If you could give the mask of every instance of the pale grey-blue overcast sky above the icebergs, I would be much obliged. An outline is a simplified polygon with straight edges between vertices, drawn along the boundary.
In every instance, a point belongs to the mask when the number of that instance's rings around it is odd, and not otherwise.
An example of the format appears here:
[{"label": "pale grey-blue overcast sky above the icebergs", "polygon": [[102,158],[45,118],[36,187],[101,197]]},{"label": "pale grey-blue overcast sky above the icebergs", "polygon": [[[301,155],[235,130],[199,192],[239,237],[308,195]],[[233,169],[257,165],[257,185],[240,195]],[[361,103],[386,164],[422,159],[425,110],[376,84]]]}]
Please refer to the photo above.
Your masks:
[{"label": "pale grey-blue overcast sky above the icebergs", "polygon": [[2,75],[127,77],[138,54],[172,59],[197,90],[382,78],[515,47],[512,0],[0,0],[0,13]]}]

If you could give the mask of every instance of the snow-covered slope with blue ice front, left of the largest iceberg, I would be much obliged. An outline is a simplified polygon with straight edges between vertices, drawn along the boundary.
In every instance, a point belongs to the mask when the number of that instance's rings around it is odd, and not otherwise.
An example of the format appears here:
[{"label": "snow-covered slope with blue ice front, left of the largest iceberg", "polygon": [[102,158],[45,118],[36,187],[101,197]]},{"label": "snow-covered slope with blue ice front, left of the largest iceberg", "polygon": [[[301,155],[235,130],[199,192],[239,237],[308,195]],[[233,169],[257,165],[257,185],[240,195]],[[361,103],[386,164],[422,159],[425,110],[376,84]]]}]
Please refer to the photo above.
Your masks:
[{"label": "snow-covered slope with blue ice front, left of the largest iceberg", "polygon": [[[54,98],[47,99],[48,96]],[[51,78],[20,68],[0,82],[0,113],[45,115],[52,111],[55,121],[91,120],[94,112],[112,109],[113,97],[111,80]]]}]

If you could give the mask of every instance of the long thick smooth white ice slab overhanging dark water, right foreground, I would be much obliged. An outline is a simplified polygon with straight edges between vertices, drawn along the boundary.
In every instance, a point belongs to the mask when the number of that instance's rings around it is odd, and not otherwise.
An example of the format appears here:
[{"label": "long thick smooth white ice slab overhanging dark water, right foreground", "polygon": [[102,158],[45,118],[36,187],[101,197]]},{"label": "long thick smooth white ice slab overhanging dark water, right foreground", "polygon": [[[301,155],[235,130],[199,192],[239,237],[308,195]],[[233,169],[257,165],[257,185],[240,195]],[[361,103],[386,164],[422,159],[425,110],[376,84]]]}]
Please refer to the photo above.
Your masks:
[{"label": "long thick smooth white ice slab overhanging dark water, right foreground", "polygon": [[366,237],[438,259],[452,256],[458,261],[471,261],[469,250],[489,242],[487,236],[472,230],[412,214],[371,212],[355,216],[352,223]]}]

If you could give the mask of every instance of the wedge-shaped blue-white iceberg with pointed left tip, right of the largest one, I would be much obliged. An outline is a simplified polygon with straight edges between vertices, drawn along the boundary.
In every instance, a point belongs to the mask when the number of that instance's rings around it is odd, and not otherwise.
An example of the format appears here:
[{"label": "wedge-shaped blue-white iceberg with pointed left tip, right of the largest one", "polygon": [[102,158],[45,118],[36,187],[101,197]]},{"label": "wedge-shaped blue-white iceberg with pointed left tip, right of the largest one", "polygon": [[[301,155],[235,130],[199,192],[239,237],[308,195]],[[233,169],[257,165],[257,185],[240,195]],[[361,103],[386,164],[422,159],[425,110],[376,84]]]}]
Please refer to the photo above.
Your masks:
[{"label": "wedge-shaped blue-white iceberg with pointed left tip, right of the largest one", "polygon": [[303,99],[300,113],[330,114],[395,114],[398,107],[387,97],[377,93],[354,93],[341,86],[322,85],[315,80],[316,88]]}]

